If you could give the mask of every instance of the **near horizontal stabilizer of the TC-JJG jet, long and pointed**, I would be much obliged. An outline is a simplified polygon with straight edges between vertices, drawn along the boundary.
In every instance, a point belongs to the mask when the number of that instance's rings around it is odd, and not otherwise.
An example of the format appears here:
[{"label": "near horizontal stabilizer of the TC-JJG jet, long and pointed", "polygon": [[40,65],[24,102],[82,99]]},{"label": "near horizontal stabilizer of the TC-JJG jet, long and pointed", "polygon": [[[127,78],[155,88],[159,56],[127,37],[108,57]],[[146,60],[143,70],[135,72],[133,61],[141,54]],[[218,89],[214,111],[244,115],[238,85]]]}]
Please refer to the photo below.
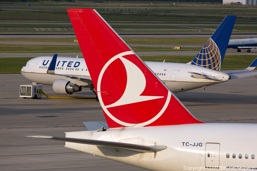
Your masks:
[{"label": "near horizontal stabilizer of the TC-JJG jet, long and pointed", "polygon": [[65,137],[51,137],[51,136],[25,136],[25,137],[51,139],[51,140],[65,141],[70,143],[90,144],[90,145],[98,145],[98,146],[106,146],[106,147],[114,147],[114,148],[123,148],[128,150],[135,150],[139,152],[158,152],[158,151],[165,150],[167,148],[167,146],[161,146],[161,145],[146,146],[146,145],[127,144],[127,143],[119,143],[119,142],[112,142],[112,141],[100,141],[100,140],[65,138]]}]

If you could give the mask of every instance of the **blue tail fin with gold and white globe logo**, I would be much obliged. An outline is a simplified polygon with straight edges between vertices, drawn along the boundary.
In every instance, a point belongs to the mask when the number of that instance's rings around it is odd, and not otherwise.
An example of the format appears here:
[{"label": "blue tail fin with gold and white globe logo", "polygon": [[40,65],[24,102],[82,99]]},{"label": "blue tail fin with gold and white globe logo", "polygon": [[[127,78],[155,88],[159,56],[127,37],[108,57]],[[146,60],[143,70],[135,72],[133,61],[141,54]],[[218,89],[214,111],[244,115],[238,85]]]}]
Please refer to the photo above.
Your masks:
[{"label": "blue tail fin with gold and white globe logo", "polygon": [[219,71],[235,21],[236,16],[228,15],[190,64]]}]

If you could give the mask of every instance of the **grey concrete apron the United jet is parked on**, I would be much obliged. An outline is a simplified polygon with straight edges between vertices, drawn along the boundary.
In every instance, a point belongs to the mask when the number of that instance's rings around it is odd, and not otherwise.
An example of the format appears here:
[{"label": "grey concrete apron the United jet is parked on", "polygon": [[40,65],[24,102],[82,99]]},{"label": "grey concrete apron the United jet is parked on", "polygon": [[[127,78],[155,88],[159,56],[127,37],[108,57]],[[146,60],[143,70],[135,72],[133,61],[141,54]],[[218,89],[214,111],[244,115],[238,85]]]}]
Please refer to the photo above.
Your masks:
[{"label": "grey concrete apron the United jet is parked on", "polygon": [[[26,135],[65,136],[84,131],[83,121],[105,121],[95,99],[23,99],[19,85],[31,84],[21,74],[0,74],[0,170],[2,171],[140,171],[97,156],[65,148],[63,142]],[[51,86],[43,86],[50,96]],[[175,94],[199,119],[208,122],[257,123],[257,78],[250,76]],[[89,89],[76,97],[95,97]],[[56,117],[39,117],[56,116]]]}]

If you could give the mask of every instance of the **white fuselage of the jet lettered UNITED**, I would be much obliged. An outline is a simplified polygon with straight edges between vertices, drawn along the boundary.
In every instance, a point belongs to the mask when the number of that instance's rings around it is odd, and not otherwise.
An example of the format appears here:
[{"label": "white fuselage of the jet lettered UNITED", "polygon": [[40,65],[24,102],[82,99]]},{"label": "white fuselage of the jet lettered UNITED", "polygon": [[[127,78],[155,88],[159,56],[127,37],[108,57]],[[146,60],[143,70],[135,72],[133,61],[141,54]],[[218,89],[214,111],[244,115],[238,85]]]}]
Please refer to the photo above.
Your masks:
[{"label": "white fuselage of the jet lettered UNITED", "polygon": [[[37,84],[52,86],[59,79],[66,79],[79,86],[92,86],[91,81],[71,79],[65,76],[47,74],[51,56],[41,56],[29,60],[21,69],[21,74]],[[182,63],[145,62],[162,82],[174,93],[206,87],[229,80],[229,75],[220,71]],[[55,73],[61,75],[90,76],[84,58],[57,57]],[[207,74],[217,79],[197,76],[192,73]],[[89,88],[90,88],[89,87]]]}]

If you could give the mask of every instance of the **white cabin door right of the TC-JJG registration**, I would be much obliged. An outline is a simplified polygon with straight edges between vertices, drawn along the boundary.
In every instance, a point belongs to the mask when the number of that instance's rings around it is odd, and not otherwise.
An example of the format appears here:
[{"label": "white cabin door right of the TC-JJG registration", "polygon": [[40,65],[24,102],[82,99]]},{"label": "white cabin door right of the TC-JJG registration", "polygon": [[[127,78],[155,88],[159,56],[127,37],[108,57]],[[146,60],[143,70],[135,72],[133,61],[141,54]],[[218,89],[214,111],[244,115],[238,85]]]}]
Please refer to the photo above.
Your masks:
[{"label": "white cabin door right of the TC-JJG registration", "polygon": [[206,143],[205,146],[205,167],[218,168],[220,165],[220,144]]}]

